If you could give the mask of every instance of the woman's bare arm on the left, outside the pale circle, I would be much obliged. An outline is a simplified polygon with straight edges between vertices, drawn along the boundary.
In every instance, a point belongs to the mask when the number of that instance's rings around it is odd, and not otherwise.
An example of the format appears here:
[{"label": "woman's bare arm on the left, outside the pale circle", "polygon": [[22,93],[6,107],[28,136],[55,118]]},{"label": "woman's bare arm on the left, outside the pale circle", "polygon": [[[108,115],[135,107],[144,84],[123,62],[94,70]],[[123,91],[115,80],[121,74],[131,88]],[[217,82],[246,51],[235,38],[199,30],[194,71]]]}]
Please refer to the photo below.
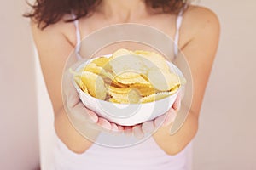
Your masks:
[{"label": "woman's bare arm on the left, outside the pale circle", "polygon": [[[67,37],[65,31],[75,32],[72,23],[57,23],[43,31],[32,22],[32,36],[38,49],[44,81],[55,114],[55,131],[70,150],[81,153],[90,147],[90,141],[71,125],[63,108],[61,78],[67,58],[73,52],[75,37]],[[75,33],[73,33],[75,35]],[[79,141],[79,142],[78,142]]]}]

